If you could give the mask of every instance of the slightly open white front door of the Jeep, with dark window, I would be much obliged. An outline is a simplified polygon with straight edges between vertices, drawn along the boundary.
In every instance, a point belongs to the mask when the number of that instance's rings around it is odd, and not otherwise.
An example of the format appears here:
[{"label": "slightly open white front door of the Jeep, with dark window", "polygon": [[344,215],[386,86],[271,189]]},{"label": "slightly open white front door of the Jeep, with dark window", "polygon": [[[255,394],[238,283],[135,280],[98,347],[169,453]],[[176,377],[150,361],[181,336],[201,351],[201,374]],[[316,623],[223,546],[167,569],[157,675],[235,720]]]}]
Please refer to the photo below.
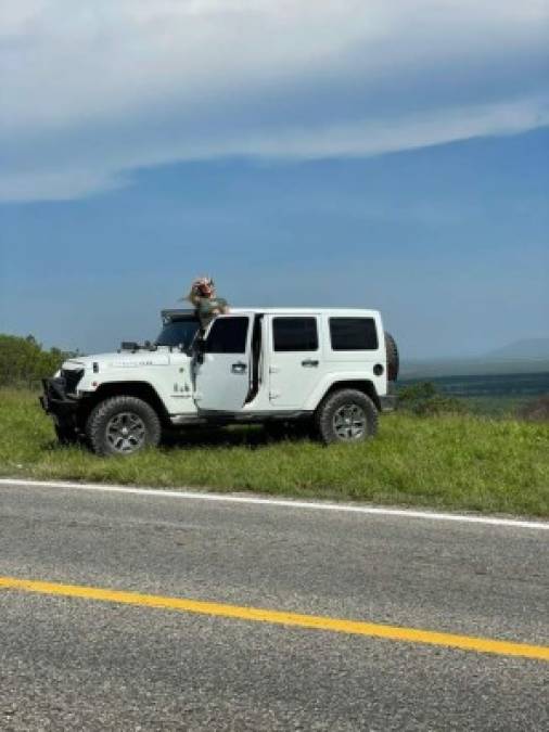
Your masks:
[{"label": "slightly open white front door of the Jeep, with dark window", "polygon": [[195,371],[199,411],[238,412],[250,390],[252,313],[218,316]]}]

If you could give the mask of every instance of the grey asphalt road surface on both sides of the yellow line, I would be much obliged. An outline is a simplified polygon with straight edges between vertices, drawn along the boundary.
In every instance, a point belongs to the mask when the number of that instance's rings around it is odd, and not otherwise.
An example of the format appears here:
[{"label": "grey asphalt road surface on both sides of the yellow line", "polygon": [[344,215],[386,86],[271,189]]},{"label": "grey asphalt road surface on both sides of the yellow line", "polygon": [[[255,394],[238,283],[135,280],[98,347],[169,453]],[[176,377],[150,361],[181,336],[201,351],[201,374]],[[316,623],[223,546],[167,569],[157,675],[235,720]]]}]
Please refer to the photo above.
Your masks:
[{"label": "grey asphalt road surface on both sides of the yellow line", "polygon": [[[549,531],[0,486],[0,576],[549,644]],[[1,730],[547,730],[549,664],[0,590]]]}]

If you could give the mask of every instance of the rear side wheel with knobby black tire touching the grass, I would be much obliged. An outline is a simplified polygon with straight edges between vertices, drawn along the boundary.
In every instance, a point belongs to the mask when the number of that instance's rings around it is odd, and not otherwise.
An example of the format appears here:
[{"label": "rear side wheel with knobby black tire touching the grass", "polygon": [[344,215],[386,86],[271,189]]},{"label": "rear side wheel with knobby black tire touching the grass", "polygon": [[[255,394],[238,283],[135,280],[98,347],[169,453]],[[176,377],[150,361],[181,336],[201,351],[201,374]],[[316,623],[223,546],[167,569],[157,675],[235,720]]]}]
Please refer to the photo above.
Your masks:
[{"label": "rear side wheel with knobby black tire touching the grass", "polygon": [[[353,419],[348,427],[346,425],[336,426],[334,423],[339,415],[345,414],[345,412],[355,413],[360,418],[360,424],[363,423],[363,427],[360,431],[358,428],[358,421],[356,421],[357,426],[353,426]],[[361,442],[362,440],[373,437],[378,432],[378,410],[373,401],[362,391],[357,389],[341,389],[339,391],[333,391],[319,404],[317,412],[315,414],[315,425],[317,433],[324,442],[324,445],[331,445],[332,442]],[[352,435],[352,431],[356,429],[357,434]],[[342,433],[349,433],[347,437],[343,436]]]}]

